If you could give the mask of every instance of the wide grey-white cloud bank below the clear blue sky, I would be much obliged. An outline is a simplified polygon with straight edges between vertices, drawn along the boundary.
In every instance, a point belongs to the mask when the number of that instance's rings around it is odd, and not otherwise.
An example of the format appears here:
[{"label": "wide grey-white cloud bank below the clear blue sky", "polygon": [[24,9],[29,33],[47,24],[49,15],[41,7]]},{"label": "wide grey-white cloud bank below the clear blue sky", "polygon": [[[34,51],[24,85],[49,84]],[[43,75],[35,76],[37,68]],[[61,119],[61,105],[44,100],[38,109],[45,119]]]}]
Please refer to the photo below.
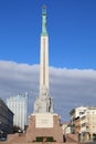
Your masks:
[{"label": "wide grey-white cloud bank below the clear blue sky", "polygon": [[[0,61],[0,97],[29,92],[30,113],[39,95],[39,65]],[[66,121],[79,105],[96,105],[96,71],[50,68],[50,92],[55,112]]]}]

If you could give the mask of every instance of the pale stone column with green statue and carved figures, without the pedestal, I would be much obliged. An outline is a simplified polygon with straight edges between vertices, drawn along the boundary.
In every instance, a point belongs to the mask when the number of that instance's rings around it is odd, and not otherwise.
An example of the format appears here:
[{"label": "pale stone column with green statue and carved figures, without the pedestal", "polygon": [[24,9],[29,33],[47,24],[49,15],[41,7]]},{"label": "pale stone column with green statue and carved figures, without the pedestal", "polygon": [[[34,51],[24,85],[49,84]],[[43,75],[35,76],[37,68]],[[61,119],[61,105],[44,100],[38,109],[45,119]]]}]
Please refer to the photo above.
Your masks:
[{"label": "pale stone column with green statue and carved figures, without the pedestal", "polygon": [[40,94],[34,103],[34,113],[53,113],[49,90],[49,34],[46,30],[46,7],[42,8],[42,32],[40,51]]}]

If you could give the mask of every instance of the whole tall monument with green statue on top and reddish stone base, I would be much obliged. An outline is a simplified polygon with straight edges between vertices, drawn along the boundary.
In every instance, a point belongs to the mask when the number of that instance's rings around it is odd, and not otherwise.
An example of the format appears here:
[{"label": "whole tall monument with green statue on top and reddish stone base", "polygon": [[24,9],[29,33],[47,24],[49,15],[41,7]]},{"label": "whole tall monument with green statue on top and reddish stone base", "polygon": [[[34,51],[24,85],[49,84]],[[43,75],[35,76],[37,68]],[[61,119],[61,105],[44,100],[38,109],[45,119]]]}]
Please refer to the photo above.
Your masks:
[{"label": "whole tall monument with green statue on top and reddish stone base", "polygon": [[49,34],[46,30],[46,7],[42,7],[42,32],[40,53],[40,93],[34,102],[33,114],[29,116],[26,142],[63,142],[60,115],[54,113],[49,89]]}]

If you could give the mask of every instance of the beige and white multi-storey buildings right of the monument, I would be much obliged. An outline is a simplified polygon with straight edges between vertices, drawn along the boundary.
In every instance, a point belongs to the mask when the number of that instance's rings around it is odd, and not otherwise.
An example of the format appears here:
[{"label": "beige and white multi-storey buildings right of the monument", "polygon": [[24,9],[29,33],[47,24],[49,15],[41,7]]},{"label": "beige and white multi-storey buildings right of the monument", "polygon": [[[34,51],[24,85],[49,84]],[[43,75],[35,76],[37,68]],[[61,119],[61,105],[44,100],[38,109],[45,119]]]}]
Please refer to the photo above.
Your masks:
[{"label": "beige and white multi-storey buildings right of the monument", "polygon": [[73,109],[70,114],[71,132],[78,134],[81,141],[96,141],[96,107],[82,106]]}]

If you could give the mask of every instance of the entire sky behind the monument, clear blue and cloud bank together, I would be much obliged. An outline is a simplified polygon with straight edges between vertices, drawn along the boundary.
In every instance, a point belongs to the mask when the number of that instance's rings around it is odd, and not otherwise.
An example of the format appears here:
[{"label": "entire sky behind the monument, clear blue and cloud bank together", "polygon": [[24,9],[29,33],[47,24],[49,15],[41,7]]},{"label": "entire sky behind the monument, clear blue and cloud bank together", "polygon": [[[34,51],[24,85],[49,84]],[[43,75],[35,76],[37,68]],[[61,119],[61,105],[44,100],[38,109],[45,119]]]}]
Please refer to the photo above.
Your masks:
[{"label": "entire sky behind the monument, clear blue and cloud bank together", "polygon": [[39,96],[42,6],[47,7],[50,92],[67,121],[74,107],[96,106],[96,0],[0,1],[0,97]]}]

